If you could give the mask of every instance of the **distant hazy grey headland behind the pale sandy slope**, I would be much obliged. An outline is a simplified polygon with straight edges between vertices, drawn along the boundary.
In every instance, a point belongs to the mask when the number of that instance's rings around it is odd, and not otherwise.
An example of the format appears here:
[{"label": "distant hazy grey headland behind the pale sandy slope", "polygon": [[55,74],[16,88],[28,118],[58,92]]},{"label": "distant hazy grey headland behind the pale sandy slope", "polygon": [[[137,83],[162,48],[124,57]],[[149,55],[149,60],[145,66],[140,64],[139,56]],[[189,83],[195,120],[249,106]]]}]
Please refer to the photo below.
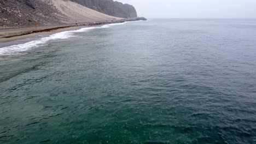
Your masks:
[{"label": "distant hazy grey headland behind the pale sandy slope", "polygon": [[70,0],[90,9],[115,17],[137,17],[136,9],[129,4],[114,2],[113,0]]}]

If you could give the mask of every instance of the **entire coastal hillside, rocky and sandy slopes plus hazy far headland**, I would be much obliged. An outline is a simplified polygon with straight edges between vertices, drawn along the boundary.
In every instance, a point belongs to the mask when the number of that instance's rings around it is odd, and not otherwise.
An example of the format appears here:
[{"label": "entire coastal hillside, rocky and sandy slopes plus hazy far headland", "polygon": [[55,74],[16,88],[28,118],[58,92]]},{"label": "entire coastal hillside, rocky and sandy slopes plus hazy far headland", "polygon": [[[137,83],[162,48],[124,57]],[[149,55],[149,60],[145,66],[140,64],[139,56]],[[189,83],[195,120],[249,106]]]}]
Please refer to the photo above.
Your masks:
[{"label": "entire coastal hillside, rocky and sandy slopes plus hazy far headland", "polygon": [[137,17],[113,0],[0,0],[0,28],[60,25]]}]

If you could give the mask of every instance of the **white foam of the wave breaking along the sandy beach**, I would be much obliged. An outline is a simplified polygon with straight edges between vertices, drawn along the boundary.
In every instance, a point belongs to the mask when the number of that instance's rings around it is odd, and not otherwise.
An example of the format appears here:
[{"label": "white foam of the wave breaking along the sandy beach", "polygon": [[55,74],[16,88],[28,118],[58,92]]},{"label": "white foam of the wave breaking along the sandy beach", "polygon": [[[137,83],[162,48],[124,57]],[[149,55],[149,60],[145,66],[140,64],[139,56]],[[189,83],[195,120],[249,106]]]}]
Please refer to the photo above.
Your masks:
[{"label": "white foam of the wave breaking along the sandy beach", "polygon": [[[124,23],[126,23],[126,22],[124,22]],[[74,31],[66,31],[66,32],[51,34],[51,35],[49,35],[49,37],[41,38],[38,40],[33,40],[33,41],[30,41],[25,44],[18,44],[18,45],[2,47],[2,48],[0,48],[0,56],[19,55],[21,52],[25,52],[25,51],[34,49],[36,47],[45,45],[50,40],[67,39],[67,38],[75,37],[73,35],[74,33],[86,32],[86,31],[89,31],[91,29],[96,29],[96,28],[108,28],[110,26],[115,26],[115,25],[124,25],[124,23],[111,23],[108,25],[103,25],[101,27],[85,27],[85,28],[81,28],[78,30],[74,30]]]}]

